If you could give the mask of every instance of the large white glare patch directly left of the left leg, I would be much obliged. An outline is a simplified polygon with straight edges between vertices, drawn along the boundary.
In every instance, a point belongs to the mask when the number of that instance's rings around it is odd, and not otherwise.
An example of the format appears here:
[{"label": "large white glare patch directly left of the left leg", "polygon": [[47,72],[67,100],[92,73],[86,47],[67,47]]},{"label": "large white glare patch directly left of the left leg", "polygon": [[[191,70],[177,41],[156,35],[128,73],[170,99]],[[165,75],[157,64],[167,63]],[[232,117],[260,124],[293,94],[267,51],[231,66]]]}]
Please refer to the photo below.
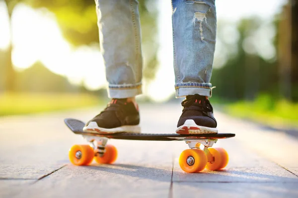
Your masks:
[{"label": "large white glare patch directly left of the left leg", "polygon": [[104,64],[98,47],[74,49],[65,40],[55,16],[46,9],[18,4],[12,15],[12,61],[23,70],[40,60],[55,74],[76,85],[96,90],[106,85]]}]

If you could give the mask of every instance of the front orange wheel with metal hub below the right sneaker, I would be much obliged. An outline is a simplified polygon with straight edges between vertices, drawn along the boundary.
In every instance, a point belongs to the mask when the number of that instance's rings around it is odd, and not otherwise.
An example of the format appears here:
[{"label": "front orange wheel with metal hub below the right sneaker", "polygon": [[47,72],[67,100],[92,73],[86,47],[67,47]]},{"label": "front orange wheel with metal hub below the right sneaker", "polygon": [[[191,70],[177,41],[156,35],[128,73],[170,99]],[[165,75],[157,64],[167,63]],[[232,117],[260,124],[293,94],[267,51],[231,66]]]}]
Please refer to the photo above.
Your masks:
[{"label": "front orange wheel with metal hub below the right sneaker", "polygon": [[207,156],[201,149],[184,150],[179,157],[179,165],[186,173],[201,172],[207,164]]}]

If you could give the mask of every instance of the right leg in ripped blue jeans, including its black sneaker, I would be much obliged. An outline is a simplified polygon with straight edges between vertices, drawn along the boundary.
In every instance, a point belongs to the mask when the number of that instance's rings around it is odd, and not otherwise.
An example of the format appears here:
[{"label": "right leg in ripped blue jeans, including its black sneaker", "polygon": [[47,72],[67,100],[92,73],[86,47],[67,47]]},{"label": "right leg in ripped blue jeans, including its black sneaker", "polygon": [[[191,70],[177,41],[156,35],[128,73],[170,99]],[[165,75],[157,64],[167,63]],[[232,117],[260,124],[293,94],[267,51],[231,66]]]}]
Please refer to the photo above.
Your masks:
[{"label": "right leg in ripped blue jeans, including its black sneaker", "polygon": [[215,0],[172,0],[176,97],[185,97],[177,133],[217,133],[208,100],[216,42]]}]

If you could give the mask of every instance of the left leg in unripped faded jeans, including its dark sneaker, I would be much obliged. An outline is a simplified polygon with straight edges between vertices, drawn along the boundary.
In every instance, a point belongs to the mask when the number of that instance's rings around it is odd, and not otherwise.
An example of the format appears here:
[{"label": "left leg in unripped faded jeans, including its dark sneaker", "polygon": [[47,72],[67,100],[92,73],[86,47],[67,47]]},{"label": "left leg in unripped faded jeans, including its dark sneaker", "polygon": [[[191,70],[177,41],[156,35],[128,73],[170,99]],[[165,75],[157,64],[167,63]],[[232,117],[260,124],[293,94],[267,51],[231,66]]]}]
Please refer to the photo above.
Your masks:
[{"label": "left leg in unripped faded jeans, including its dark sneaker", "polygon": [[108,106],[86,123],[84,131],[140,132],[135,96],[142,94],[142,49],[137,0],[95,0],[103,54]]}]

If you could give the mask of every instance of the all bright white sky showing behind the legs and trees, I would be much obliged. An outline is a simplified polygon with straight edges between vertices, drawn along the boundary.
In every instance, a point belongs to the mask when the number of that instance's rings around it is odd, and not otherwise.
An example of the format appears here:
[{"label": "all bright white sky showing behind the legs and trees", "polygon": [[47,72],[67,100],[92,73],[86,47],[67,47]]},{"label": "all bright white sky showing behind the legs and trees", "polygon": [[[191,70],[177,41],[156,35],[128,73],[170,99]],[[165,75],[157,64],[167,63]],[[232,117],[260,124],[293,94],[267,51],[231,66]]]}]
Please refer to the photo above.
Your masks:
[{"label": "all bright white sky showing behind the legs and trees", "polygon": [[[217,0],[217,16],[220,21],[237,22],[239,19],[251,15],[258,15],[268,20],[281,9],[286,0]],[[152,99],[163,100],[174,93],[174,72],[172,53],[172,28],[170,0],[159,0],[158,29],[160,48],[157,56],[159,69],[156,79],[148,86],[148,93]],[[0,1],[0,49],[5,49],[9,41],[9,24],[6,6]],[[38,27],[38,28],[37,28]],[[265,26],[259,36],[264,40],[263,45],[255,44],[243,46],[251,53],[261,54],[265,58],[274,56],[270,40],[264,35],[273,32],[270,25]],[[226,27],[223,33],[233,35],[233,27]],[[264,34],[264,32],[268,34]],[[236,35],[234,35],[236,36]],[[274,36],[274,35],[273,35]],[[230,42],[234,42],[235,39]],[[63,38],[53,14],[34,10],[24,4],[16,6],[12,17],[12,61],[16,69],[30,67],[40,60],[52,72],[66,76],[72,83],[81,82],[91,90],[105,87],[103,58],[97,46],[83,46],[73,49]],[[229,42],[229,41],[226,41]],[[266,43],[267,42],[267,43]],[[221,42],[217,43],[215,67],[224,62]],[[259,47],[258,47],[259,46]],[[261,47],[260,47],[261,46]],[[273,50],[273,51],[272,51]],[[221,51],[221,53],[218,53]],[[226,53],[228,52],[226,50]],[[171,75],[169,75],[171,74]]]}]

